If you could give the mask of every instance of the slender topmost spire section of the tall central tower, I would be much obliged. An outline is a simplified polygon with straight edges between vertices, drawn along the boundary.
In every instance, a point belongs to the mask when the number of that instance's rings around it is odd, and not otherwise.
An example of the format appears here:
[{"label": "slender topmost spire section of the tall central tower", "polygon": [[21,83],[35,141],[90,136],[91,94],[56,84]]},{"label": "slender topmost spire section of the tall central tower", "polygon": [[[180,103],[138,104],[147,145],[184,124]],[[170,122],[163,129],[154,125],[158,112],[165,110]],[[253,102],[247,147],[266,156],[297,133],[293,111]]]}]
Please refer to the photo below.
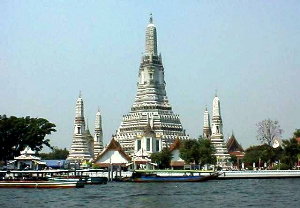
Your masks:
[{"label": "slender topmost spire section of the tall central tower", "polygon": [[152,14],[150,14],[149,24],[147,25],[146,29],[145,54],[157,56],[157,35],[156,27],[153,24]]}]

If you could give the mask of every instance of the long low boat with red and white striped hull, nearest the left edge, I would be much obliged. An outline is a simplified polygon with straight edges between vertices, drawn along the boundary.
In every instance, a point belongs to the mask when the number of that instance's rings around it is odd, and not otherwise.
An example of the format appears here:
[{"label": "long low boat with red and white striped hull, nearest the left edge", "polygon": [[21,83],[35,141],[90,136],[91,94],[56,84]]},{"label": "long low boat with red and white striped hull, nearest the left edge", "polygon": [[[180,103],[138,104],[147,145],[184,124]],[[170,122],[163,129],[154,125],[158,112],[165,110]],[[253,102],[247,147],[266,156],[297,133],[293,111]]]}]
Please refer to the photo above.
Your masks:
[{"label": "long low boat with red and white striped hull, nearest the left edge", "polygon": [[84,183],[54,181],[0,181],[0,188],[83,188]]}]

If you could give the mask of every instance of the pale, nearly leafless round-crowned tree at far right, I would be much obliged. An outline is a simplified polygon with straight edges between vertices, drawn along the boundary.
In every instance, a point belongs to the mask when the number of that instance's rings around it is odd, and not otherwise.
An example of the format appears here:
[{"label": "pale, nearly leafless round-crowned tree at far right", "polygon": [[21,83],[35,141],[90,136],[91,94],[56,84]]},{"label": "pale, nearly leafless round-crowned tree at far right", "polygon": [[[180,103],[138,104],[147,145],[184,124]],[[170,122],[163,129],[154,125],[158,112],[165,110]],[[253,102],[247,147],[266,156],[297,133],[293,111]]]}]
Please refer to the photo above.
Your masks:
[{"label": "pale, nearly leafless round-crowned tree at far right", "polygon": [[283,130],[280,128],[278,121],[271,119],[263,120],[256,124],[257,126],[257,139],[262,144],[272,145],[275,138],[281,138]]}]

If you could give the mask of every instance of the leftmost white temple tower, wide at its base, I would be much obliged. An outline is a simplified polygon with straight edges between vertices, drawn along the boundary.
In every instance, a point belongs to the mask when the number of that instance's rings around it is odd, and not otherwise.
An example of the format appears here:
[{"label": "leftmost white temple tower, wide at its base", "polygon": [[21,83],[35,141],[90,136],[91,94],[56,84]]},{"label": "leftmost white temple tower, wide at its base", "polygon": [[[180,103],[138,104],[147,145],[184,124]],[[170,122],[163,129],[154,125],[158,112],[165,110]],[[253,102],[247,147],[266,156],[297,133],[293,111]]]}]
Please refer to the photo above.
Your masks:
[{"label": "leftmost white temple tower, wide at its base", "polygon": [[83,162],[93,158],[88,133],[89,131],[85,129],[83,99],[80,94],[76,102],[73,141],[67,160],[71,162]]}]

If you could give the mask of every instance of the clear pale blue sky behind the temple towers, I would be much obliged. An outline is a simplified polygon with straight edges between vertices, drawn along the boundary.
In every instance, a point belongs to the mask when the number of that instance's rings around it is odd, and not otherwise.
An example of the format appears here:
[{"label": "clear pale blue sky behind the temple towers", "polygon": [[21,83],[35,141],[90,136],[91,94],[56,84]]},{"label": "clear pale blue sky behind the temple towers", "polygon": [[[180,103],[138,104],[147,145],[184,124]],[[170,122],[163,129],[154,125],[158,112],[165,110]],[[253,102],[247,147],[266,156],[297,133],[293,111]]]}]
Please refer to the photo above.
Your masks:
[{"label": "clear pale blue sky behind the temple towers", "polygon": [[225,141],[259,144],[256,123],[278,120],[283,139],[300,128],[300,2],[0,1],[0,114],[56,124],[51,144],[70,148],[82,92],[104,143],[137,90],[149,14],[157,28],[166,91],[187,134],[202,134],[217,92]]}]

